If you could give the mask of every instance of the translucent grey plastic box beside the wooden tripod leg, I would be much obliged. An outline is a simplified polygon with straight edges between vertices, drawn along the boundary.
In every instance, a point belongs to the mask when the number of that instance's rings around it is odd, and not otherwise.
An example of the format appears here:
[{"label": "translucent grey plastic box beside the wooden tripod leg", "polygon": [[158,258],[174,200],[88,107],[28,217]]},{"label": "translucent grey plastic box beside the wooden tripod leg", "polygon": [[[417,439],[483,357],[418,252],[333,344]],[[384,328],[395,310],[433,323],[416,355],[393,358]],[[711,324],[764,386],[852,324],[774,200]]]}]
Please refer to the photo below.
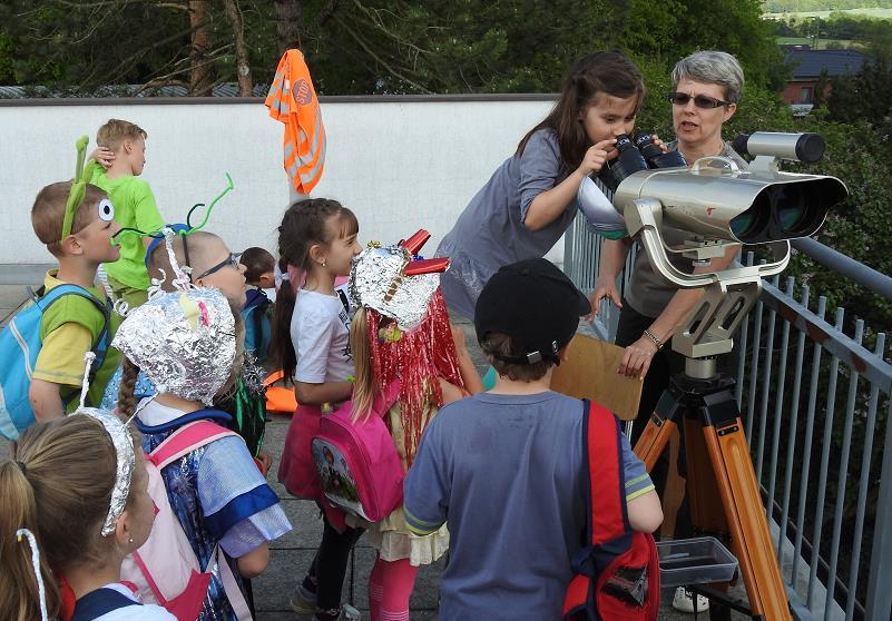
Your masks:
[{"label": "translucent grey plastic box beside the wooden tripod leg", "polygon": [[657,542],[660,586],[727,582],[737,571],[737,559],[712,536]]}]

